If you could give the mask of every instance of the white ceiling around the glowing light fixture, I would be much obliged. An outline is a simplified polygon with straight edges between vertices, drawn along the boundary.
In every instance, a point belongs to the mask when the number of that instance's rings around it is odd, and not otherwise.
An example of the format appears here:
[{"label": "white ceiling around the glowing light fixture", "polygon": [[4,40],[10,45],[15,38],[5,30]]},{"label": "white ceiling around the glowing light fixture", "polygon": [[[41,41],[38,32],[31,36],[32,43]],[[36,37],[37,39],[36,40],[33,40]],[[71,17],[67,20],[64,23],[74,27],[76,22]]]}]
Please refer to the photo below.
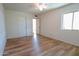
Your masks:
[{"label": "white ceiling around the glowing light fixture", "polygon": [[30,12],[33,14],[39,14],[51,9],[53,10],[53,9],[62,7],[67,4],[69,3],[48,3],[47,9],[43,11],[36,9],[33,3],[4,3],[4,8],[16,10],[16,11],[22,11],[22,12]]}]

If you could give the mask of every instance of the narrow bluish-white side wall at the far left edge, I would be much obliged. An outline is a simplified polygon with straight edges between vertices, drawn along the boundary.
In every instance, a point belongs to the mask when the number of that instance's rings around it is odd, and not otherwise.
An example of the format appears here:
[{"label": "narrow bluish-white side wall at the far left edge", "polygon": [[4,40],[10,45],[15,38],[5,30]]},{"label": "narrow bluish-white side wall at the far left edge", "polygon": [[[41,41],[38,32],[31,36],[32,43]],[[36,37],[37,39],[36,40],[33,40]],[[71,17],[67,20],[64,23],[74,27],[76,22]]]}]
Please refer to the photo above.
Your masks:
[{"label": "narrow bluish-white side wall at the far left edge", "polygon": [[0,55],[3,55],[6,36],[5,36],[5,21],[4,21],[4,8],[3,5],[0,4]]}]

